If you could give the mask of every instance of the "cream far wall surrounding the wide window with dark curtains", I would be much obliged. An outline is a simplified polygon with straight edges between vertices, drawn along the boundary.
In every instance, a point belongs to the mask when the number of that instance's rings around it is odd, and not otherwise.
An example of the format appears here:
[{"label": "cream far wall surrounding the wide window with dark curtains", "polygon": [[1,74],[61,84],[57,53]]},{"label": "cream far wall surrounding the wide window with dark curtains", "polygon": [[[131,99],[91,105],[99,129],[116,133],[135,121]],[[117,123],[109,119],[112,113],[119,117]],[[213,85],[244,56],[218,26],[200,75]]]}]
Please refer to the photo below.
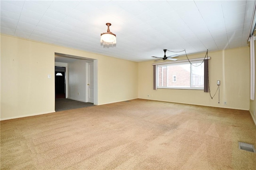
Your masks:
[{"label": "cream far wall surrounding the wide window with dark curtains", "polygon": [[[218,87],[217,80],[220,80],[220,103],[218,103],[218,92],[211,99],[209,93],[204,93],[203,90],[153,90],[153,60],[139,63],[138,96],[141,99],[249,110],[249,52],[249,47],[208,52],[208,56],[211,57],[209,63],[210,90],[213,96]],[[201,53],[188,57],[192,59],[204,56],[205,53]],[[186,56],[179,57],[179,59],[186,59]],[[224,105],[224,101],[227,105]]]}]

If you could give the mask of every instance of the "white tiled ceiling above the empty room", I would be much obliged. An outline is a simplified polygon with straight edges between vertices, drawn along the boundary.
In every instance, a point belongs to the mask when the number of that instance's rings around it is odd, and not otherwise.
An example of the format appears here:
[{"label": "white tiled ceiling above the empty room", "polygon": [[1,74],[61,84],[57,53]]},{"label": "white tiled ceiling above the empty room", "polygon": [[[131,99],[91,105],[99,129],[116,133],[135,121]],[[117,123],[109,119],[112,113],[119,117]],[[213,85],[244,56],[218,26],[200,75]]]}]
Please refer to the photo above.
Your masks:
[{"label": "white tiled ceiling above the empty room", "polygon": [[[1,34],[128,59],[248,46],[254,0],[1,0]],[[100,34],[116,34],[116,47]],[[166,55],[173,55],[170,51]],[[183,53],[178,53],[184,55]]]}]

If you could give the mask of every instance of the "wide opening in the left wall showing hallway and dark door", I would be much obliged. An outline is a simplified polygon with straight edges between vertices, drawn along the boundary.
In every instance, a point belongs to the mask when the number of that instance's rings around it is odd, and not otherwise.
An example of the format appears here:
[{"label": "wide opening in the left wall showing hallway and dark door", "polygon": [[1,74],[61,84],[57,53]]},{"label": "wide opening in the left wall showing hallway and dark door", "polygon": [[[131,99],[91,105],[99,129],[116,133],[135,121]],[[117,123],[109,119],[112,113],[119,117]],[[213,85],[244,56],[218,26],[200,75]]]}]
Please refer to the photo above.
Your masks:
[{"label": "wide opening in the left wall showing hallway and dark door", "polygon": [[55,68],[56,110],[61,100],[98,105],[98,60],[55,53]]}]

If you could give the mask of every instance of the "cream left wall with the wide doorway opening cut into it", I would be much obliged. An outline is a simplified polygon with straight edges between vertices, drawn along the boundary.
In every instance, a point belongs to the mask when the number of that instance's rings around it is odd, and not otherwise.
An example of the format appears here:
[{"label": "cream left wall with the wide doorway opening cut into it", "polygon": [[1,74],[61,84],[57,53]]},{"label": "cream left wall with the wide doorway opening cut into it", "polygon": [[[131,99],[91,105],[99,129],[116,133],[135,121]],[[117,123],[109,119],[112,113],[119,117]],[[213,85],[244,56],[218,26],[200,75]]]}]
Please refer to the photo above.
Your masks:
[{"label": "cream left wall with the wide doorway opening cut into it", "polygon": [[136,62],[1,35],[1,120],[54,112],[55,52],[98,60],[98,105],[138,98]]}]

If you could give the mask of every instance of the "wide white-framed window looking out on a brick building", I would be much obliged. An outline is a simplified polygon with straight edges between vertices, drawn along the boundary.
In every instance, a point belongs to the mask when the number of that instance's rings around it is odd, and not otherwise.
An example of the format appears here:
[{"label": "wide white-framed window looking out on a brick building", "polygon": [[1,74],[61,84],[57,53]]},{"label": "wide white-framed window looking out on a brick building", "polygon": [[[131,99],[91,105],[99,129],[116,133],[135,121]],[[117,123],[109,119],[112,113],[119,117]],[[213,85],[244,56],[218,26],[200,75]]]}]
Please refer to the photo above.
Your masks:
[{"label": "wide white-framed window looking out on a brick building", "polygon": [[157,88],[204,89],[204,63],[188,61],[156,65]]}]

